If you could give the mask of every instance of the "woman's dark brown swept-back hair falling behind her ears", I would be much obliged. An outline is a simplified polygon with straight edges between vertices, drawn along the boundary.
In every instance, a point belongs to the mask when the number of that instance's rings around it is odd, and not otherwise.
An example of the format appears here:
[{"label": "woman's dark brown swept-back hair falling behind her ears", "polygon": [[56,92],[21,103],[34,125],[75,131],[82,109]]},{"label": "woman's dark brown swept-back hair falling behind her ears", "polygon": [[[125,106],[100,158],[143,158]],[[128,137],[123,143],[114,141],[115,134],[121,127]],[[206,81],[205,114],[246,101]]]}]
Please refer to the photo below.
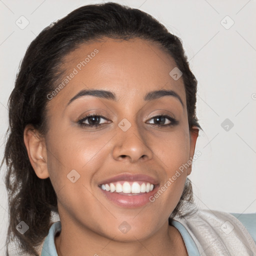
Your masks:
[{"label": "woman's dark brown swept-back hair falling behind her ears", "polygon": [[[142,38],[157,43],[182,72],[189,129],[200,128],[195,114],[197,81],[189,69],[181,40],[149,14],[117,3],[85,5],[44,28],[30,43],[19,67],[15,87],[8,101],[9,128],[4,158],[8,192],[9,226],[6,244],[15,241],[22,251],[38,255],[36,246],[47,235],[51,213],[58,212],[55,191],[49,178],[36,176],[23,141],[27,124],[42,135],[47,131],[47,94],[56,87],[63,58],[82,43],[103,37],[128,40]],[[187,178],[181,198],[171,217],[192,202]],[[29,229],[21,234],[16,225],[23,220]],[[8,246],[6,255],[9,255]]]}]

